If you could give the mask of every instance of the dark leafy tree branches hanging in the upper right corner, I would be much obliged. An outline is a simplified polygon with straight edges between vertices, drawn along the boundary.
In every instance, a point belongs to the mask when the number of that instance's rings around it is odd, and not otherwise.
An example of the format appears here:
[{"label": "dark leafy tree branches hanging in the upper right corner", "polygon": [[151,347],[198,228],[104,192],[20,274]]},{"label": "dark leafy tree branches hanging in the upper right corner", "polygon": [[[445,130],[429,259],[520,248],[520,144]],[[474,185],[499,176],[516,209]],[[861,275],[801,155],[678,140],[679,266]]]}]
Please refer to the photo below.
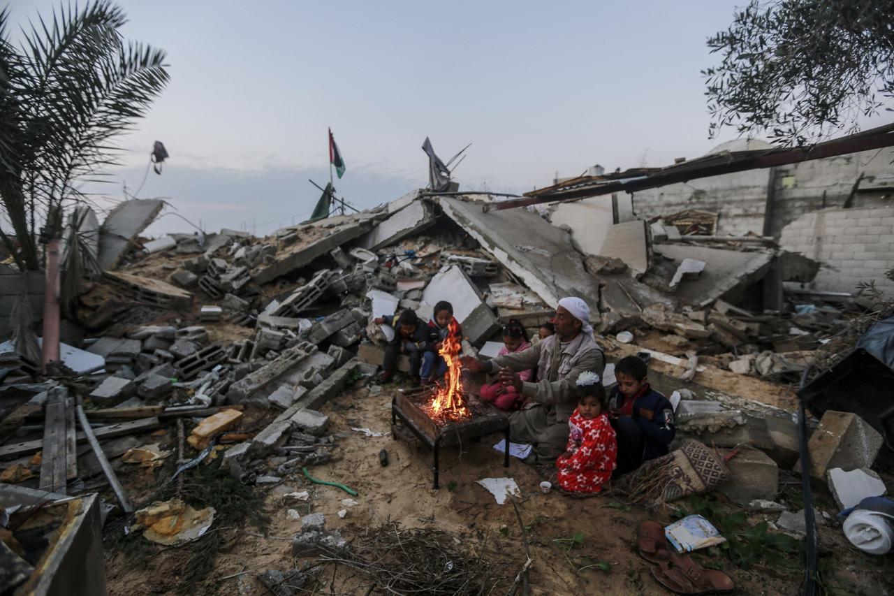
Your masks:
[{"label": "dark leafy tree branches hanging in the upper right corner", "polygon": [[751,0],[708,39],[721,64],[706,78],[711,134],[733,126],[780,145],[809,141],[873,115],[894,96],[890,4],[874,0]]}]

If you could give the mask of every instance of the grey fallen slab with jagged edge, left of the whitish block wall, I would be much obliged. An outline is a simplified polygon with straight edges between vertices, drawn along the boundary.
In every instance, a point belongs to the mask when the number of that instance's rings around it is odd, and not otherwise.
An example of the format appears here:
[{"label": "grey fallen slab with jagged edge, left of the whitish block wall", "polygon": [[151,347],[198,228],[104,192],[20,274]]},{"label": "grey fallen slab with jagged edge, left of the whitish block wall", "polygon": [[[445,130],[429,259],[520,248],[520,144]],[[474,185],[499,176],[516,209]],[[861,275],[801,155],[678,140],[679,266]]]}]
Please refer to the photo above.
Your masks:
[{"label": "grey fallen slab with jagged edge, left of the whitish block wall", "polygon": [[669,259],[702,260],[707,265],[698,279],[680,283],[677,297],[699,308],[722,298],[737,302],[740,293],[760,281],[769,270],[775,253],[772,251],[728,251],[708,246],[656,244],[655,251]]}]

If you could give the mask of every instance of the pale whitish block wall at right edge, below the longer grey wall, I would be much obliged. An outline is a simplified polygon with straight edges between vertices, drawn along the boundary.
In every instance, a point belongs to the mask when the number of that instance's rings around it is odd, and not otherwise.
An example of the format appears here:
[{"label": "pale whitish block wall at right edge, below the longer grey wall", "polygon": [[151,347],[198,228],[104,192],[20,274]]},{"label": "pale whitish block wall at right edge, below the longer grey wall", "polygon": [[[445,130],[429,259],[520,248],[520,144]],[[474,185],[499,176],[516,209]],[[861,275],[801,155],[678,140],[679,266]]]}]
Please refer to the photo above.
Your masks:
[{"label": "pale whitish block wall at right edge, below the longer grey wall", "polygon": [[894,297],[894,206],[823,209],[798,217],[782,228],[783,249],[820,260],[822,268],[809,286],[814,290],[856,293],[856,285],[875,285]]}]

